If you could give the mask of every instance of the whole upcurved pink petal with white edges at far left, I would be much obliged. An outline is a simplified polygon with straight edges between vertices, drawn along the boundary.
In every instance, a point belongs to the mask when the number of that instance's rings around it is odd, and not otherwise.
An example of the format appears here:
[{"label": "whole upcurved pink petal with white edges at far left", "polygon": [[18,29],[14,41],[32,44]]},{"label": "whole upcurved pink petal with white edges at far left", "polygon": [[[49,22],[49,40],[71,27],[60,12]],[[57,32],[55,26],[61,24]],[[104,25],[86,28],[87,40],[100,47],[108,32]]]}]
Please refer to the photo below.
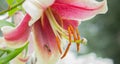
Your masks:
[{"label": "whole upcurved pink petal with white edges at far left", "polygon": [[30,19],[30,15],[26,14],[23,21],[16,28],[10,26],[4,26],[1,28],[4,39],[10,47],[19,47],[19,44],[23,44],[27,41],[30,33],[30,26],[28,26]]}]

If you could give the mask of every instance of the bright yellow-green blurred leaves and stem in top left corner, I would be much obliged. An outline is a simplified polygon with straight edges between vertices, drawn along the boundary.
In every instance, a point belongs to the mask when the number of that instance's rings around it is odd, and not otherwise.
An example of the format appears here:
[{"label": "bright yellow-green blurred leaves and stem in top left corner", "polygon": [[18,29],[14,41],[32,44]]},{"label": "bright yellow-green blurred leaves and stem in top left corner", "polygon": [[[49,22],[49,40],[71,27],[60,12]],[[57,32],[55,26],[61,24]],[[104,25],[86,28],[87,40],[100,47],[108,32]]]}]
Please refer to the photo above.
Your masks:
[{"label": "bright yellow-green blurred leaves and stem in top left corner", "polygon": [[12,16],[16,11],[22,9],[21,4],[25,0],[0,0],[0,15],[8,12]]}]

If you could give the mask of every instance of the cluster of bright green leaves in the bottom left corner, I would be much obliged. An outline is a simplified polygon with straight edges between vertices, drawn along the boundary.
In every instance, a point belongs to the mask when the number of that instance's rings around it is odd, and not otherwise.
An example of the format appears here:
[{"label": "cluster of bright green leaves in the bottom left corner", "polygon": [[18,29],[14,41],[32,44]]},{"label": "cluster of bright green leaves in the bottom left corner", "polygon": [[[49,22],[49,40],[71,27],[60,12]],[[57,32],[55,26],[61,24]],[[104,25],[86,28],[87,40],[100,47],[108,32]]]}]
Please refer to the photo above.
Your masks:
[{"label": "cluster of bright green leaves in the bottom left corner", "polygon": [[0,64],[8,64],[9,61],[19,55],[24,49],[28,47],[28,42],[22,47],[11,49],[11,48],[0,48]]}]

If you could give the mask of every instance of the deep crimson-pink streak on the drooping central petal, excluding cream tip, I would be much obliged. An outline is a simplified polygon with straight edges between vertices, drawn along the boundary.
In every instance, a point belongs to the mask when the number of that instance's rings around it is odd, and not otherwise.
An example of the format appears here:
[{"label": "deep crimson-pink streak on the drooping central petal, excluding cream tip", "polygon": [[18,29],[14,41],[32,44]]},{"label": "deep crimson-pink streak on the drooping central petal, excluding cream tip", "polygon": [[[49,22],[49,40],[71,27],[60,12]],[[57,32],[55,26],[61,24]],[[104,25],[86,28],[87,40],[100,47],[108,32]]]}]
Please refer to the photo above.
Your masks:
[{"label": "deep crimson-pink streak on the drooping central petal, excluding cream tip", "polygon": [[[54,51],[53,49],[56,49],[55,35],[47,19],[44,19],[44,26],[41,25],[40,21],[34,24],[34,36],[39,47],[45,49],[47,45],[51,52]],[[48,53],[49,51],[46,52]]]}]

